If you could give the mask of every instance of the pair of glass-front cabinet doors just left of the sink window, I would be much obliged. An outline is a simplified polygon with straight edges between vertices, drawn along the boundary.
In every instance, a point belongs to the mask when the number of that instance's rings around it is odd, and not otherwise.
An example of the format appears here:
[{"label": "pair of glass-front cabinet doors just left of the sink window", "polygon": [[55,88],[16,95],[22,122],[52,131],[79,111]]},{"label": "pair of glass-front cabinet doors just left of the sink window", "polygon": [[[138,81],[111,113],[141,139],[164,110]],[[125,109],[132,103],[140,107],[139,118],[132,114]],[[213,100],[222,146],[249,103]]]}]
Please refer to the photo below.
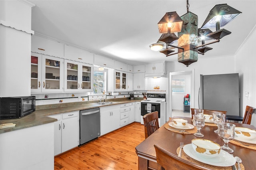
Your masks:
[{"label": "pair of glass-front cabinet doors just left of the sink window", "polygon": [[91,65],[65,60],[64,70],[64,91],[92,91]]}]

